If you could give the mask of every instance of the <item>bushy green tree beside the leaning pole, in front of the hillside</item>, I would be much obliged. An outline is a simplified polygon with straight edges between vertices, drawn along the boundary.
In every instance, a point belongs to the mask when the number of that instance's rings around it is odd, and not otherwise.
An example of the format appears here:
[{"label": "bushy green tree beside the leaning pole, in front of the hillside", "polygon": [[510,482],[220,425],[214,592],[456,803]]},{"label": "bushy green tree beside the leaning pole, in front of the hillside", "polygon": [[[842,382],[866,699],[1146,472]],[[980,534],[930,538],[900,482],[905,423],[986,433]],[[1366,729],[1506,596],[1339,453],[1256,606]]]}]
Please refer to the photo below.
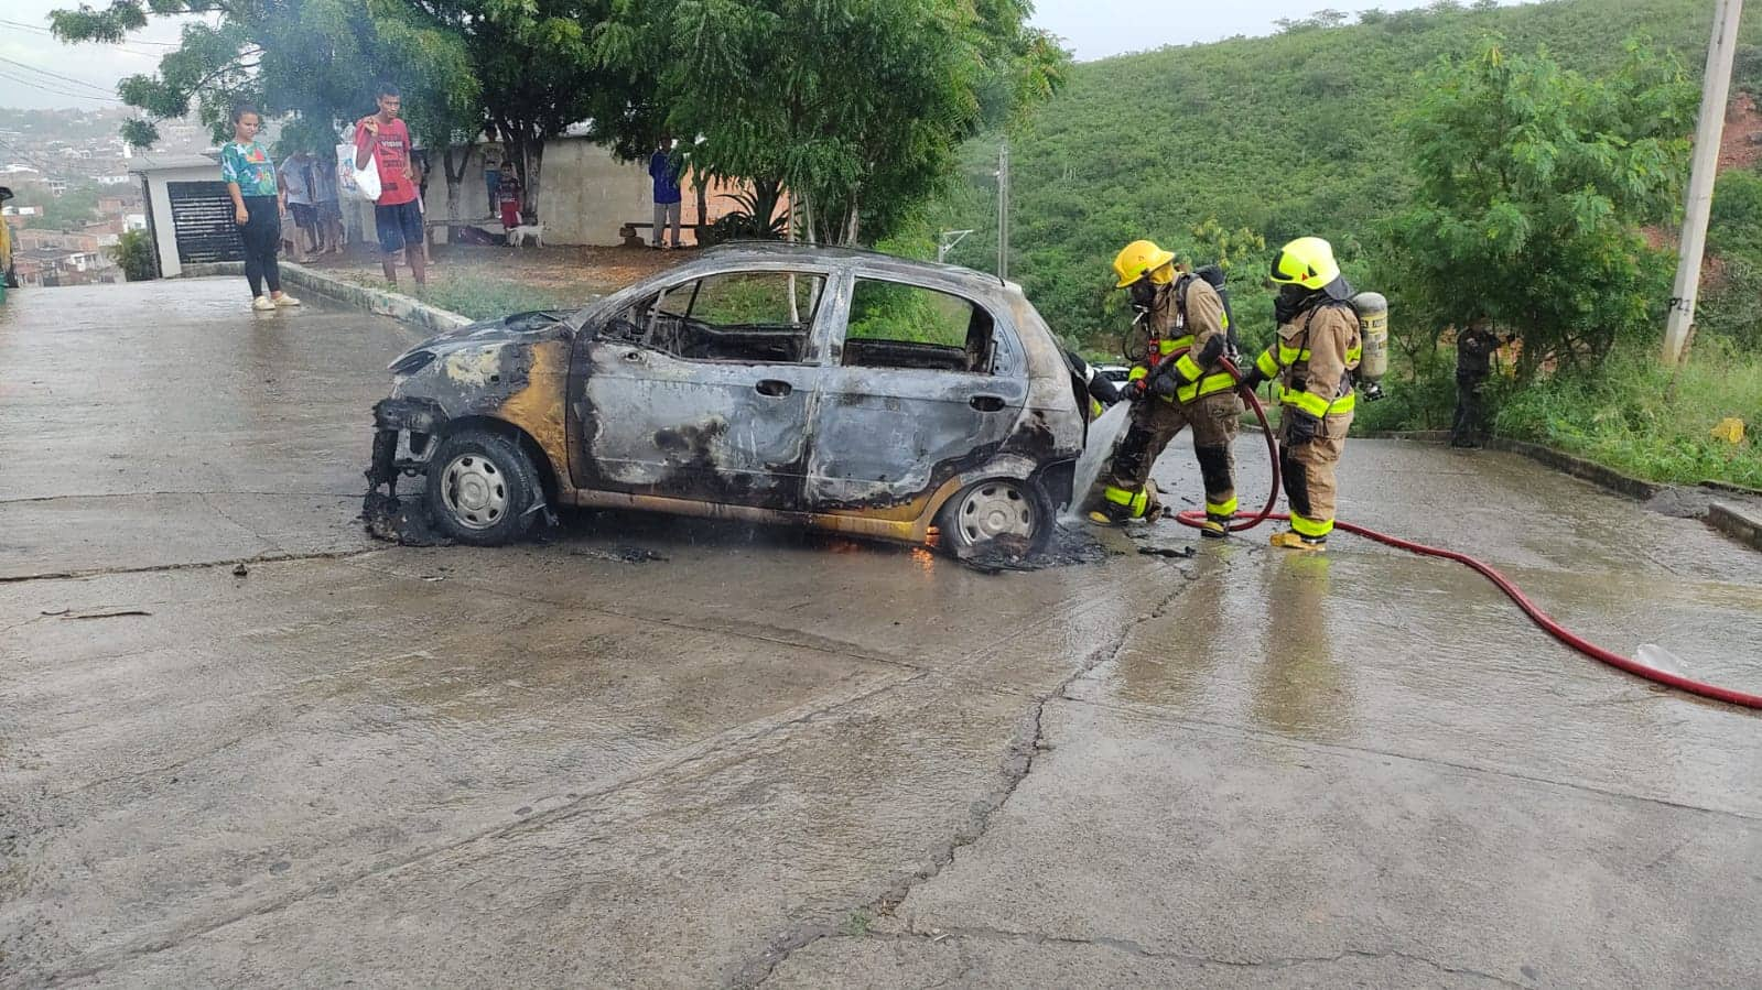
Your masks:
[{"label": "bushy green tree beside the leaning pole, in front of the hillside", "polygon": [[1515,329],[1522,377],[1647,329],[1670,266],[1640,227],[1677,210],[1697,102],[1681,65],[1630,41],[1623,70],[1591,81],[1487,42],[1422,92],[1418,187],[1390,225],[1410,322]]}]

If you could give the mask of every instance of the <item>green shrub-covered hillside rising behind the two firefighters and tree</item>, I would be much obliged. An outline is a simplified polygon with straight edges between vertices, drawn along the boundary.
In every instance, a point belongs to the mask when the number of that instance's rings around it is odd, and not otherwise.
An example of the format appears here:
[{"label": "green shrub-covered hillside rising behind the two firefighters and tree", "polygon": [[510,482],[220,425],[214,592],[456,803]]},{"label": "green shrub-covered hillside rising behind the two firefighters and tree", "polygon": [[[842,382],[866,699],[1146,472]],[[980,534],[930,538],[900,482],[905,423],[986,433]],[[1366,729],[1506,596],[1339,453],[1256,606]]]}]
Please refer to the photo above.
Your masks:
[{"label": "green shrub-covered hillside rising behind the two firefighters and tree", "polygon": [[[1207,218],[1258,233],[1269,247],[1316,233],[1362,277],[1378,222],[1403,206],[1410,185],[1401,118],[1420,70],[1498,33],[1512,49],[1544,46],[1566,67],[1602,76],[1621,63],[1623,41],[1642,35],[1699,76],[1711,16],[1706,0],[1410,11],[1082,63],[1011,146],[1010,275],[1059,333],[1101,351],[1122,322],[1108,261],[1140,236],[1210,261],[1216,248],[1193,234]],[[1762,41],[1762,14],[1746,18],[1744,35]],[[1739,72],[1758,63],[1744,51]],[[967,181],[934,211],[944,229],[976,229],[950,261],[996,266],[996,137],[976,141]],[[1251,252],[1239,273],[1239,319],[1251,329],[1270,317],[1270,301],[1251,285],[1265,255]]]}]

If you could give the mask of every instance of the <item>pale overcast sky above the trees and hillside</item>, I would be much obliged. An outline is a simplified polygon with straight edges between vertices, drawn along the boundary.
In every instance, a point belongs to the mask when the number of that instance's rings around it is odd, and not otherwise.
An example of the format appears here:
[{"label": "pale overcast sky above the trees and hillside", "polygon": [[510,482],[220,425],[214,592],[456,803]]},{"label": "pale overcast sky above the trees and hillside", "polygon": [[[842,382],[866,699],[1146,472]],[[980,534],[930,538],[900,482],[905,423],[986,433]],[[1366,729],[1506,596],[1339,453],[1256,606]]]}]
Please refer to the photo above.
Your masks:
[{"label": "pale overcast sky above the trees and hillside", "polygon": [[[88,0],[102,7],[104,0]],[[1503,0],[1514,2],[1514,0]],[[1124,51],[1165,44],[1218,41],[1230,35],[1270,33],[1279,18],[1304,18],[1334,5],[1343,11],[1422,7],[1425,0],[1038,0],[1034,23],[1064,37],[1077,58],[1089,62]],[[118,106],[116,79],[152,72],[167,44],[178,41],[174,25],[155,19],[122,46],[63,46],[48,35],[48,16],[78,0],[5,0],[0,4],[0,106]],[[32,69],[23,69],[30,65]],[[55,72],[56,76],[44,76]],[[97,88],[93,88],[97,86]],[[93,97],[111,97],[109,100]]]}]

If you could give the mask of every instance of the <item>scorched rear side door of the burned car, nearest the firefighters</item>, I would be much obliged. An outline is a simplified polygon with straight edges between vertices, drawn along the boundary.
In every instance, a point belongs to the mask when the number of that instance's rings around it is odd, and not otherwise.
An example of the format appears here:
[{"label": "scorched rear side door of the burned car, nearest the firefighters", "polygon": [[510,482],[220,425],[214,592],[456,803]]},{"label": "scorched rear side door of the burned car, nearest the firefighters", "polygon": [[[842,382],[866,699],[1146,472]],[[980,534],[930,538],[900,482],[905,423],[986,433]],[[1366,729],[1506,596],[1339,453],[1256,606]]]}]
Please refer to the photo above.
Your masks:
[{"label": "scorched rear side door of the burned car, nearest the firefighters", "polygon": [[1027,403],[1025,354],[1006,314],[948,285],[856,271],[833,308],[809,506],[914,514],[1010,437]]}]

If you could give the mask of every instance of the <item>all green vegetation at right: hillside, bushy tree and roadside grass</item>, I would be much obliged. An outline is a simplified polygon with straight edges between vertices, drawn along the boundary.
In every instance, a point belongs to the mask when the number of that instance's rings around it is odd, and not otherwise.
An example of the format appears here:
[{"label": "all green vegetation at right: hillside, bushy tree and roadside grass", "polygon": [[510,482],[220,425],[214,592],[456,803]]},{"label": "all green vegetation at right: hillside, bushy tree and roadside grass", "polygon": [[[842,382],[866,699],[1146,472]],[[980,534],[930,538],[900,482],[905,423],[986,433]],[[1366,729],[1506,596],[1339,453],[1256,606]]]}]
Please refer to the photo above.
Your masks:
[{"label": "all green vegetation at right: hillside, bushy tree and roadside grass", "polygon": [[[1011,139],[1010,275],[1061,336],[1115,354],[1110,261],[1149,236],[1221,257],[1260,345],[1267,247],[1320,234],[1394,305],[1390,398],[1360,405],[1362,430],[1448,425],[1452,328],[1489,317],[1524,340],[1492,386],[1498,430],[1644,477],[1753,484],[1757,440],[1707,433],[1739,416],[1753,437],[1762,417],[1762,174],[1721,178],[1692,361],[1656,366],[1711,12],[1445,0],[1077,65]],[[1757,92],[1762,19],[1743,41],[1737,86]],[[997,144],[967,144],[967,181],[925,224],[974,229],[950,261],[980,270],[996,270]]]}]

